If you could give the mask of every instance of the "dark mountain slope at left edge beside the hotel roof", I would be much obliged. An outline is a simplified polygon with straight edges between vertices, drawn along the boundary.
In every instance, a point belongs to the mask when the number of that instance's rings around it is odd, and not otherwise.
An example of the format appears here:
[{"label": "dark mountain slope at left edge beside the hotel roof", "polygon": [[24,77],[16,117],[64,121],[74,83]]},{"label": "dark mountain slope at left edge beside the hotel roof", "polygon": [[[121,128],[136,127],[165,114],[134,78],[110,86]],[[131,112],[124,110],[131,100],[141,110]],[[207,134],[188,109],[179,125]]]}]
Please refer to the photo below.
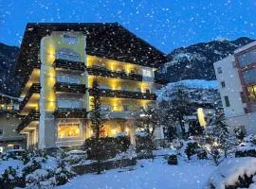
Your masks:
[{"label": "dark mountain slope at left edge beside the hotel roof", "polygon": [[0,43],[0,93],[17,96],[21,83],[14,75],[19,48]]}]

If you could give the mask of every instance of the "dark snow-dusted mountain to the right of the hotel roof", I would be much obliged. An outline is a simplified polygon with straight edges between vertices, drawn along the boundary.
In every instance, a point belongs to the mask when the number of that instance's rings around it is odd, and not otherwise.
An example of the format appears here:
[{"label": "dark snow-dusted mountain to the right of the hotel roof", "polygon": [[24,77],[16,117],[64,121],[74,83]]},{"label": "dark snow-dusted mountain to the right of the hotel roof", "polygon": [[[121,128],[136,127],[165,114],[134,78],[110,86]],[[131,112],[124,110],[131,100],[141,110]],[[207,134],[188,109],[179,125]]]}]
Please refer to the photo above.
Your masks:
[{"label": "dark snow-dusted mountain to the right of the hotel roof", "polygon": [[243,37],[234,41],[215,40],[209,43],[197,43],[188,47],[174,49],[155,77],[161,77],[169,82],[184,79],[215,79],[213,63],[221,60],[240,46],[253,40]]}]

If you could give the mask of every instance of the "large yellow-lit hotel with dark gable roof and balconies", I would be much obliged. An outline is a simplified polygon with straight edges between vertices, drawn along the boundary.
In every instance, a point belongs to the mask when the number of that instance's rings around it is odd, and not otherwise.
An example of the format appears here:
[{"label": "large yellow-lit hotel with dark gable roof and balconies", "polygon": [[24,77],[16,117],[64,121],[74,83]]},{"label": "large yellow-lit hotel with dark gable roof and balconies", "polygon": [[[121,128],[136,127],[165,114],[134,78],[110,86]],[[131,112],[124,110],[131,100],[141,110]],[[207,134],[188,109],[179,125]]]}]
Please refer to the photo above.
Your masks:
[{"label": "large yellow-lit hotel with dark gable roof and balconies", "polygon": [[25,77],[18,131],[28,146],[81,146],[89,127],[91,89],[100,83],[101,136],[134,135],[134,112],[155,101],[154,72],[163,53],[113,24],[28,24],[17,74]]}]

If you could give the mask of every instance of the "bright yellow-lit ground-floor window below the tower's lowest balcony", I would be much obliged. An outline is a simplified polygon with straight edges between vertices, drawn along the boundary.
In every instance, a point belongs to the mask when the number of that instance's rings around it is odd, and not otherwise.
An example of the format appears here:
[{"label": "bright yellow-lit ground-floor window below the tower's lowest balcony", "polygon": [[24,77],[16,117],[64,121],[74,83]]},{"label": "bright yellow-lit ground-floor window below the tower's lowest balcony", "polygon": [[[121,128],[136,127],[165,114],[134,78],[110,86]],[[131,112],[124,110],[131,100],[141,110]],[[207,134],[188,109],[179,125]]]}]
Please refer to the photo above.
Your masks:
[{"label": "bright yellow-lit ground-floor window below the tower's lowest balcony", "polygon": [[79,122],[59,123],[58,138],[81,136],[81,124]]}]

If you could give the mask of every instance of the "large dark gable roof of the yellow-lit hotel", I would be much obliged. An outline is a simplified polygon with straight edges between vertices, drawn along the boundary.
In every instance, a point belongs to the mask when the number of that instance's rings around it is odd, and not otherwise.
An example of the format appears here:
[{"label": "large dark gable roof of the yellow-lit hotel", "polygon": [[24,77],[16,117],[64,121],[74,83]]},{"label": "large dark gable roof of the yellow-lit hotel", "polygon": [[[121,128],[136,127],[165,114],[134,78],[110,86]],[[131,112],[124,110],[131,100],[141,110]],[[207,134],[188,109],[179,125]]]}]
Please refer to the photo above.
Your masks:
[{"label": "large dark gable roof of the yellow-lit hotel", "polygon": [[30,67],[38,62],[41,39],[52,31],[82,31],[88,55],[148,67],[158,67],[167,61],[164,53],[118,23],[29,23],[17,60],[18,73],[29,74]]}]

